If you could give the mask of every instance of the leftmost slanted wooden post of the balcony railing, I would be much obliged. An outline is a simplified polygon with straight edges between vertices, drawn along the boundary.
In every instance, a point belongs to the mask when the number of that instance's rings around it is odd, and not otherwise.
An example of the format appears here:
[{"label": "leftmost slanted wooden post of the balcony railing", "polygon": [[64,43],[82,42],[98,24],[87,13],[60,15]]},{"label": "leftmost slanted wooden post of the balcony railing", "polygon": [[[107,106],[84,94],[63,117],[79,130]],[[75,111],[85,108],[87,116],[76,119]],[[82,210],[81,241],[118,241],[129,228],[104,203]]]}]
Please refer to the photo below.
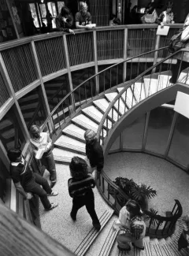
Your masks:
[{"label": "leftmost slanted wooden post of the balcony railing", "polygon": [[25,141],[28,142],[29,138],[30,138],[28,128],[25,124],[24,117],[21,113],[20,106],[17,102],[17,96],[15,95],[15,92],[14,92],[14,89],[13,89],[13,84],[11,83],[11,80],[9,78],[9,73],[6,69],[6,65],[5,65],[5,62],[3,61],[1,53],[0,53],[0,69],[2,69],[2,77],[3,77],[3,80],[6,83],[7,91],[9,92],[10,97],[13,98],[14,104],[15,104],[16,109],[17,109],[17,121],[20,124],[20,128],[21,128],[21,131],[23,132]]}]

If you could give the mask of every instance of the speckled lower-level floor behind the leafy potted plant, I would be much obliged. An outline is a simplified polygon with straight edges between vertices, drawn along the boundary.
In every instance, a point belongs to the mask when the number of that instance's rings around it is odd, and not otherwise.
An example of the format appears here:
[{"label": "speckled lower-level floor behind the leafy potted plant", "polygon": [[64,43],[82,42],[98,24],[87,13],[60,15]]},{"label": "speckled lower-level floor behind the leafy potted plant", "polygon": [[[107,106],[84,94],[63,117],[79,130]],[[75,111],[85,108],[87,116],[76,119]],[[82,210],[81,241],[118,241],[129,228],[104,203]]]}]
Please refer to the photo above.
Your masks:
[{"label": "speckled lower-level floor behind the leafy potted plant", "polygon": [[111,180],[118,176],[144,183],[157,191],[149,199],[149,208],[165,215],[172,210],[174,199],[183,206],[183,215],[189,214],[189,175],[164,159],[142,153],[117,153],[106,158],[105,172]]}]

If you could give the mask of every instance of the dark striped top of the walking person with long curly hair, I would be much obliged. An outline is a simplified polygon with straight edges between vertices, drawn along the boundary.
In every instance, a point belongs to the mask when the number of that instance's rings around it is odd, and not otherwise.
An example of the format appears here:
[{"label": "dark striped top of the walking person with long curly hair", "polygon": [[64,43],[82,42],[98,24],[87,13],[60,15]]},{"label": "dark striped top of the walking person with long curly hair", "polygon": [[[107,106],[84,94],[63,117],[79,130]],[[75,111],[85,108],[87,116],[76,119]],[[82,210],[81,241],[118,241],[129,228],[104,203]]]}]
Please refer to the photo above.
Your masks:
[{"label": "dark striped top of the walking person with long curly hair", "polygon": [[69,195],[73,198],[75,196],[82,196],[91,188],[95,187],[95,179],[91,174],[82,180],[70,178],[68,180]]}]

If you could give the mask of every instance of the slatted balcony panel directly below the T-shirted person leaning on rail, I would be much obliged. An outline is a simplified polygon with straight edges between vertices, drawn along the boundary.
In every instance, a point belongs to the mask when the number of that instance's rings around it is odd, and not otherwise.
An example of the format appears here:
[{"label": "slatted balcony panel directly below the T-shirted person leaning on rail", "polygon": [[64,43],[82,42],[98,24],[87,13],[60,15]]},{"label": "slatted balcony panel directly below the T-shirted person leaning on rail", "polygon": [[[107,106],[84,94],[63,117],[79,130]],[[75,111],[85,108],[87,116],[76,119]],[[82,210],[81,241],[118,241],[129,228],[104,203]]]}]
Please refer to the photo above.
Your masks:
[{"label": "slatted balcony panel directly below the T-shirted person leaning on rail", "polygon": [[94,61],[93,33],[68,35],[69,65],[80,65]]}]

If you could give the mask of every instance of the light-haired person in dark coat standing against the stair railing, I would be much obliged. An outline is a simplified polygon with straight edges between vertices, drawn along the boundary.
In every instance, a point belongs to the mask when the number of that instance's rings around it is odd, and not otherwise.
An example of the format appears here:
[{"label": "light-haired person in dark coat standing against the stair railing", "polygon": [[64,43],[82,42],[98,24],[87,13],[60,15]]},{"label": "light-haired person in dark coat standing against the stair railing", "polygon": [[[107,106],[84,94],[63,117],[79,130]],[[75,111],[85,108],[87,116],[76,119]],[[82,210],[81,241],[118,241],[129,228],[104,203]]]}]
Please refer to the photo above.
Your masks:
[{"label": "light-haired person in dark coat standing against the stair railing", "polygon": [[102,147],[100,143],[98,143],[95,132],[91,129],[88,129],[84,133],[84,138],[86,140],[86,161],[88,164],[88,172],[92,173],[97,169],[97,172],[100,173],[104,167]]}]

